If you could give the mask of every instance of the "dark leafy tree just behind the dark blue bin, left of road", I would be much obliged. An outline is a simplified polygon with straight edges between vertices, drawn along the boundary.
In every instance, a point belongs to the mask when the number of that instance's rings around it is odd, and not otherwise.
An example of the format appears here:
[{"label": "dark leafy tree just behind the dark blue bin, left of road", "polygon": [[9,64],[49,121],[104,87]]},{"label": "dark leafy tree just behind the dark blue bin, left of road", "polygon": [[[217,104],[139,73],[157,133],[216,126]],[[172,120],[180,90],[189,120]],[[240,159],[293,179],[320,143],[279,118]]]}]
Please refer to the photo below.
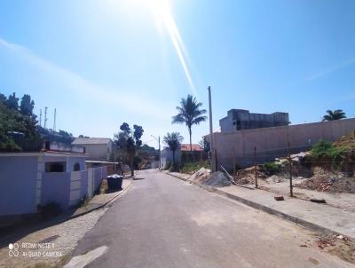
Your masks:
[{"label": "dark leafy tree just behind the dark blue bin, left of road", "polygon": [[134,176],[135,156],[139,147],[142,146],[140,138],[142,138],[144,130],[141,126],[133,125],[132,132],[127,122],[122,123],[120,130],[114,135],[114,146],[117,151],[116,158],[118,157],[122,162],[127,163],[130,166],[131,176]]}]

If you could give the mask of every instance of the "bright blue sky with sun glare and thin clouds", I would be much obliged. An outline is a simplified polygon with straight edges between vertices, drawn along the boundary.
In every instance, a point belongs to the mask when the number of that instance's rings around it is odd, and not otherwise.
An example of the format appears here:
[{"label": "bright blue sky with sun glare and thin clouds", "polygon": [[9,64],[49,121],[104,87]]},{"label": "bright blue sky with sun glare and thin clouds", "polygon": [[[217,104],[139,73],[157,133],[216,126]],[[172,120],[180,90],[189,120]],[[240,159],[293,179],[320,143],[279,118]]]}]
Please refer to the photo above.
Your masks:
[{"label": "bright blue sky with sun glare and thin clouds", "polygon": [[[0,92],[29,93],[51,127],[112,138],[122,122],[179,131],[193,94],[214,128],[231,108],[317,122],[355,116],[355,1],[1,1]],[[193,128],[193,141],[209,131]]]}]

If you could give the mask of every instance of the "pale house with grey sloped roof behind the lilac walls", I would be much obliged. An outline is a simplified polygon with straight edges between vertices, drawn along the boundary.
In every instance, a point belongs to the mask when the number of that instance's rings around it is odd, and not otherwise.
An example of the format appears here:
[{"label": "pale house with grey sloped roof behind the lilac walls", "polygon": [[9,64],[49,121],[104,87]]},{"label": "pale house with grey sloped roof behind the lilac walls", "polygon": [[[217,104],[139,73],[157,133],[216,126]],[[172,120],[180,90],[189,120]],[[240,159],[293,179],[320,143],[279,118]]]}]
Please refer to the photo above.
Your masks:
[{"label": "pale house with grey sloped roof behind the lilac walls", "polygon": [[75,138],[72,146],[83,146],[88,160],[108,161],[112,154],[113,142],[111,138]]}]

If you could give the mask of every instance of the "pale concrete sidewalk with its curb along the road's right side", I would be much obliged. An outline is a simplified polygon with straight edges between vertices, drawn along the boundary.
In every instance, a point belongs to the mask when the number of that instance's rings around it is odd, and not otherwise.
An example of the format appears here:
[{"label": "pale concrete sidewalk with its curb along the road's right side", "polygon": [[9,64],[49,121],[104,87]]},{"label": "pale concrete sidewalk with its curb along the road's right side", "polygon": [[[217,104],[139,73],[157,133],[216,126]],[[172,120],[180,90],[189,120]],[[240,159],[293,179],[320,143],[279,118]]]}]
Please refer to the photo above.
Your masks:
[{"label": "pale concrete sidewalk with its curb along the road's right side", "polygon": [[[188,180],[189,175],[167,172],[170,176]],[[227,187],[211,187],[198,185],[210,192],[218,193],[236,201],[263,210],[272,215],[284,217],[297,225],[317,232],[333,232],[343,234],[355,240],[355,213],[343,211],[327,204],[313,203],[284,195],[285,201],[275,201],[276,193],[231,185]]]}]

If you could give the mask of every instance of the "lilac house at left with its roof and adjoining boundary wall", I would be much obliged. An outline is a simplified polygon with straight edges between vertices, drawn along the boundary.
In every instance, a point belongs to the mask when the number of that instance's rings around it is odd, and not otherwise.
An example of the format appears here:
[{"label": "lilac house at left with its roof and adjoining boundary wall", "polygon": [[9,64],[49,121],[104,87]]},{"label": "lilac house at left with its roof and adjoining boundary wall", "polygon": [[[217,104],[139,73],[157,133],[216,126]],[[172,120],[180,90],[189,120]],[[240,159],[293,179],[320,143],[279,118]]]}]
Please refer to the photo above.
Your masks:
[{"label": "lilac house at left with its roof and adjoining boundary wall", "polygon": [[92,197],[109,165],[86,169],[83,147],[45,143],[28,153],[0,153],[0,225],[7,219],[34,214],[56,202],[61,209]]}]

